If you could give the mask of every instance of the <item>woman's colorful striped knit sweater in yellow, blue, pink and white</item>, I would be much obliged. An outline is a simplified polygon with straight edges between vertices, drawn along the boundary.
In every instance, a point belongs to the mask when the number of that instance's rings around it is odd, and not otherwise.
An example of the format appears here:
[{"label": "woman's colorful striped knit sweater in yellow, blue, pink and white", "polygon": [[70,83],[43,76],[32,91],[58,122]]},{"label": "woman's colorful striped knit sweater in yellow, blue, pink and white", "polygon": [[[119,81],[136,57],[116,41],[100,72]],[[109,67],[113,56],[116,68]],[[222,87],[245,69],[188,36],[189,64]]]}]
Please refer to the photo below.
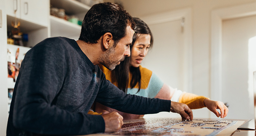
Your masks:
[{"label": "woman's colorful striped knit sweater in yellow, blue, pink and white", "polygon": [[[100,69],[106,75],[106,79],[110,80],[114,85],[117,86],[116,82],[113,82],[111,79],[111,71],[105,68],[104,66],[100,65]],[[156,74],[152,71],[139,66],[140,73],[141,73],[141,87],[140,91],[138,92],[139,85],[137,84],[134,88],[131,88],[131,74],[129,76],[129,87],[127,89],[128,94],[136,94],[143,97],[149,98],[160,98],[171,100],[175,102],[181,102],[187,104],[191,109],[199,109],[205,107],[203,104],[203,100],[206,98],[204,96],[198,96],[192,93],[181,92],[181,90],[174,89],[165,83],[163,83]],[[138,92],[138,93],[137,93]],[[117,111],[115,109],[111,109],[106,107],[100,103],[95,103],[92,109],[97,112],[101,113],[103,111]],[[136,115],[136,114],[128,114],[124,112],[117,111],[120,115],[123,116],[124,120],[128,119],[138,119],[142,118],[144,115]],[[96,114],[92,111],[89,114]]]}]

